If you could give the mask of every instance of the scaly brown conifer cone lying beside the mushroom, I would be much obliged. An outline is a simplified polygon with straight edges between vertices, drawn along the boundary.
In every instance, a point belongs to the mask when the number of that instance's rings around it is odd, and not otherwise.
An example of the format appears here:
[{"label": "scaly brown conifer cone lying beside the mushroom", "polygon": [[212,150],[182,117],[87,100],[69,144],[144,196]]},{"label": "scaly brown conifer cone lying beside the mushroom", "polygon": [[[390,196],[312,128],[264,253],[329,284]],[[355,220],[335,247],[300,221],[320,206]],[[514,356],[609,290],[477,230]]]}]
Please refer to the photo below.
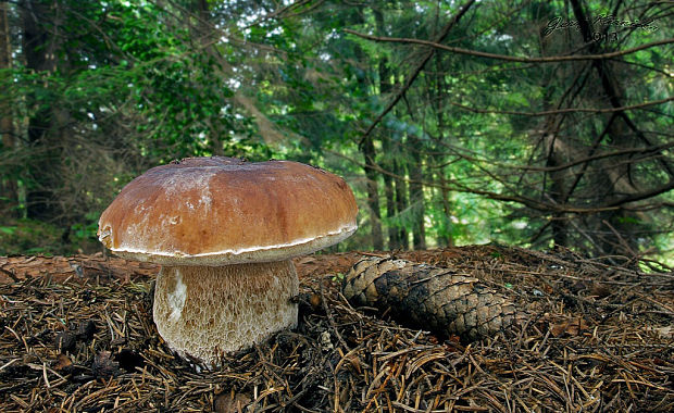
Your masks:
[{"label": "scaly brown conifer cone lying beside the mushroom", "polygon": [[477,278],[392,258],[365,258],[351,268],[342,293],[353,305],[390,311],[394,320],[470,342],[515,323],[512,302]]}]

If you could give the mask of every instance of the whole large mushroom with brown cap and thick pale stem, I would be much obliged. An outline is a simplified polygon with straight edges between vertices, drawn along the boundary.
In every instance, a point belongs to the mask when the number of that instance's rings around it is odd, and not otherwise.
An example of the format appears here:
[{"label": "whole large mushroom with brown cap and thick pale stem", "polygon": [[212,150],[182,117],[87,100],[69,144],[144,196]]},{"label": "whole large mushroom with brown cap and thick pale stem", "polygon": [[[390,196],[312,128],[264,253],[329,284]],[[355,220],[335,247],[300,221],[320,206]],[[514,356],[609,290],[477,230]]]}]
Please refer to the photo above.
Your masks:
[{"label": "whole large mushroom with brown cap and thick pale stem", "polygon": [[116,255],[162,264],[159,334],[184,359],[215,366],[297,326],[290,259],[348,238],[357,212],[344,179],[317,167],[188,158],[126,185],[98,234]]}]

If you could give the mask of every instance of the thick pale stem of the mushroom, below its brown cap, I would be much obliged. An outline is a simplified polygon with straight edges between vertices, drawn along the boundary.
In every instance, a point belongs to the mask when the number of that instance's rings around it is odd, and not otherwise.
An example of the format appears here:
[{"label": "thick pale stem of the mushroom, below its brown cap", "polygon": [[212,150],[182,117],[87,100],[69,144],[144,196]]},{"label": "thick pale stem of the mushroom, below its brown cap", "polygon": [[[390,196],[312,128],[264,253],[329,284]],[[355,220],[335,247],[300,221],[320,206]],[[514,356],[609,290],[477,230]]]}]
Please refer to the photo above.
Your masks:
[{"label": "thick pale stem of the mushroom, below its brown cap", "polygon": [[220,355],[297,326],[291,298],[299,281],[291,261],[226,266],[163,266],[154,290],[154,323],[180,356],[210,366]]}]

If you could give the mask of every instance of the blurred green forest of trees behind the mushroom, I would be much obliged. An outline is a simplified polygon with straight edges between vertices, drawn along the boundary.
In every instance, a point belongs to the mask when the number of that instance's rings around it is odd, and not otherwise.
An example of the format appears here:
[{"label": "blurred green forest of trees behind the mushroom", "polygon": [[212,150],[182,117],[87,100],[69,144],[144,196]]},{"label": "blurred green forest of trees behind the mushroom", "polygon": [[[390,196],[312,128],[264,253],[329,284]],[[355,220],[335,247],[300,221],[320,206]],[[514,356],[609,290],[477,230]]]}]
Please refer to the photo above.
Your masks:
[{"label": "blurred green forest of trees behind the mushroom", "polygon": [[224,154],[345,176],[340,248],[672,255],[671,4],[0,5],[0,253],[95,251],[134,176]]}]

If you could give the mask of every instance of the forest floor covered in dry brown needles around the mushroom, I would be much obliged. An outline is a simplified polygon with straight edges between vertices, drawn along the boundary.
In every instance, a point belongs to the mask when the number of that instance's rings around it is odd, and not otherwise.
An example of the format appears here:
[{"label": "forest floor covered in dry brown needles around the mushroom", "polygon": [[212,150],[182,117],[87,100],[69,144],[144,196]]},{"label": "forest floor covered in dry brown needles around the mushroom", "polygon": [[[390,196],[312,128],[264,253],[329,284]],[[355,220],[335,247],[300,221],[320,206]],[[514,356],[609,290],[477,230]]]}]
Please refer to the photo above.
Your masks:
[{"label": "forest floor covered in dry brown needles around the mushroom", "polygon": [[570,251],[400,252],[479,278],[527,314],[472,343],[354,309],[340,279],[365,255],[296,259],[300,322],[217,371],[157,334],[155,265],[0,256],[0,405],[13,411],[672,412],[674,274]]}]

